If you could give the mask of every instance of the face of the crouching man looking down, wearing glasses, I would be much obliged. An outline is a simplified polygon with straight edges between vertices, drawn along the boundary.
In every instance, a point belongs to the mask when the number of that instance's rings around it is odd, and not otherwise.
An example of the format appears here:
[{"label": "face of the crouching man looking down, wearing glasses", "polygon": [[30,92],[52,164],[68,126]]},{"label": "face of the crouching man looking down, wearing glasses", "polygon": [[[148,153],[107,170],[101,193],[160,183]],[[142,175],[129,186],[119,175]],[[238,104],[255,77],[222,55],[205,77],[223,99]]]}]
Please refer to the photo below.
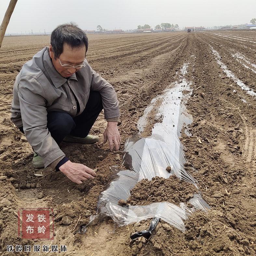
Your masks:
[{"label": "face of the crouching man looking down, wearing glasses", "polygon": [[[78,69],[76,68],[64,68],[61,66],[64,64],[77,66],[84,64],[86,47],[82,45],[81,47],[72,48],[68,44],[63,44],[63,52],[61,53],[59,58],[55,58],[52,46],[49,46],[49,53],[52,59],[53,66],[55,69],[63,76],[63,77],[70,77],[74,74]],[[61,61],[61,63],[60,63]]]}]

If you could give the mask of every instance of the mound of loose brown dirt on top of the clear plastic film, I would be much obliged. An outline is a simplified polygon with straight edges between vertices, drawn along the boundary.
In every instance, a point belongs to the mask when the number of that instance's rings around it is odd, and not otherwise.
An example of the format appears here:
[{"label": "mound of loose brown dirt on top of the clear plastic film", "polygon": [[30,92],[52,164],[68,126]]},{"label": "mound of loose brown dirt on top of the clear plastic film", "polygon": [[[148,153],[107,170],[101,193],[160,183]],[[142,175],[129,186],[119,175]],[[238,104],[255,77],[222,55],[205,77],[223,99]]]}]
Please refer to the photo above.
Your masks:
[{"label": "mound of loose brown dirt on top of the clear plastic film", "polygon": [[[127,199],[128,205],[148,205],[156,202],[169,202],[180,205],[180,202],[187,203],[197,192],[193,184],[178,179],[175,175],[168,179],[154,177],[151,181],[143,179],[131,190]],[[192,207],[188,203],[189,207]]]}]

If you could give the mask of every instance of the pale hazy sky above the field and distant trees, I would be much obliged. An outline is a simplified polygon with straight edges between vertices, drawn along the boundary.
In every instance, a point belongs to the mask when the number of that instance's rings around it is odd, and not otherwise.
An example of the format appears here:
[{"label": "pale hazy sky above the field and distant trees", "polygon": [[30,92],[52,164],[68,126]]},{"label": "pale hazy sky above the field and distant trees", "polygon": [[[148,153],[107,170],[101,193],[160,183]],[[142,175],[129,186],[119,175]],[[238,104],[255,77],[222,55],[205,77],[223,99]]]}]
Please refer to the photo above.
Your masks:
[{"label": "pale hazy sky above the field and distant trees", "polygon": [[[3,20],[9,0],[0,1]],[[153,28],[161,22],[185,26],[249,23],[256,18],[256,0],[18,0],[6,33],[52,31],[57,25],[74,21],[82,29],[136,29],[139,24]]]}]

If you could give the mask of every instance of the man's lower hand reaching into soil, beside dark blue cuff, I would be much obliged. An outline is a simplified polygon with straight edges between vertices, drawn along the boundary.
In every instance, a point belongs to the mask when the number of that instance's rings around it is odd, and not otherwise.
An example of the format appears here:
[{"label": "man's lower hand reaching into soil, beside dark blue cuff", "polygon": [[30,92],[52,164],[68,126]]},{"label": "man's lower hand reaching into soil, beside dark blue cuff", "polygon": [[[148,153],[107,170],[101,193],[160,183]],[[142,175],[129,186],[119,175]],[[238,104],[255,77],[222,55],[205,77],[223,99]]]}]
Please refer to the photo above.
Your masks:
[{"label": "man's lower hand reaching into soil, beside dark blue cuff", "polygon": [[88,179],[93,180],[96,176],[94,170],[90,169],[86,165],[72,163],[67,161],[59,168],[71,181],[81,184]]}]

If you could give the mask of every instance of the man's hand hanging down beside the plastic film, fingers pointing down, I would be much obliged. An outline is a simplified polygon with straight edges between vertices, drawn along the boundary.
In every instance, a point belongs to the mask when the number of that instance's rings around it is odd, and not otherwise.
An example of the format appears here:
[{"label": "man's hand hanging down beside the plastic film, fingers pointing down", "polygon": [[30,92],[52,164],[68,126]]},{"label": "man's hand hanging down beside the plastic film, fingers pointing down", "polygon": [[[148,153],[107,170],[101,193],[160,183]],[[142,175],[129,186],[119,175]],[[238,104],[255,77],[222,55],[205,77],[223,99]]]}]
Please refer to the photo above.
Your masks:
[{"label": "man's hand hanging down beside the plastic film, fingers pointing down", "polygon": [[115,145],[115,150],[117,151],[120,147],[121,137],[117,128],[117,122],[108,122],[107,128],[104,131],[104,143],[108,140],[109,149],[113,151],[113,142]]}]

